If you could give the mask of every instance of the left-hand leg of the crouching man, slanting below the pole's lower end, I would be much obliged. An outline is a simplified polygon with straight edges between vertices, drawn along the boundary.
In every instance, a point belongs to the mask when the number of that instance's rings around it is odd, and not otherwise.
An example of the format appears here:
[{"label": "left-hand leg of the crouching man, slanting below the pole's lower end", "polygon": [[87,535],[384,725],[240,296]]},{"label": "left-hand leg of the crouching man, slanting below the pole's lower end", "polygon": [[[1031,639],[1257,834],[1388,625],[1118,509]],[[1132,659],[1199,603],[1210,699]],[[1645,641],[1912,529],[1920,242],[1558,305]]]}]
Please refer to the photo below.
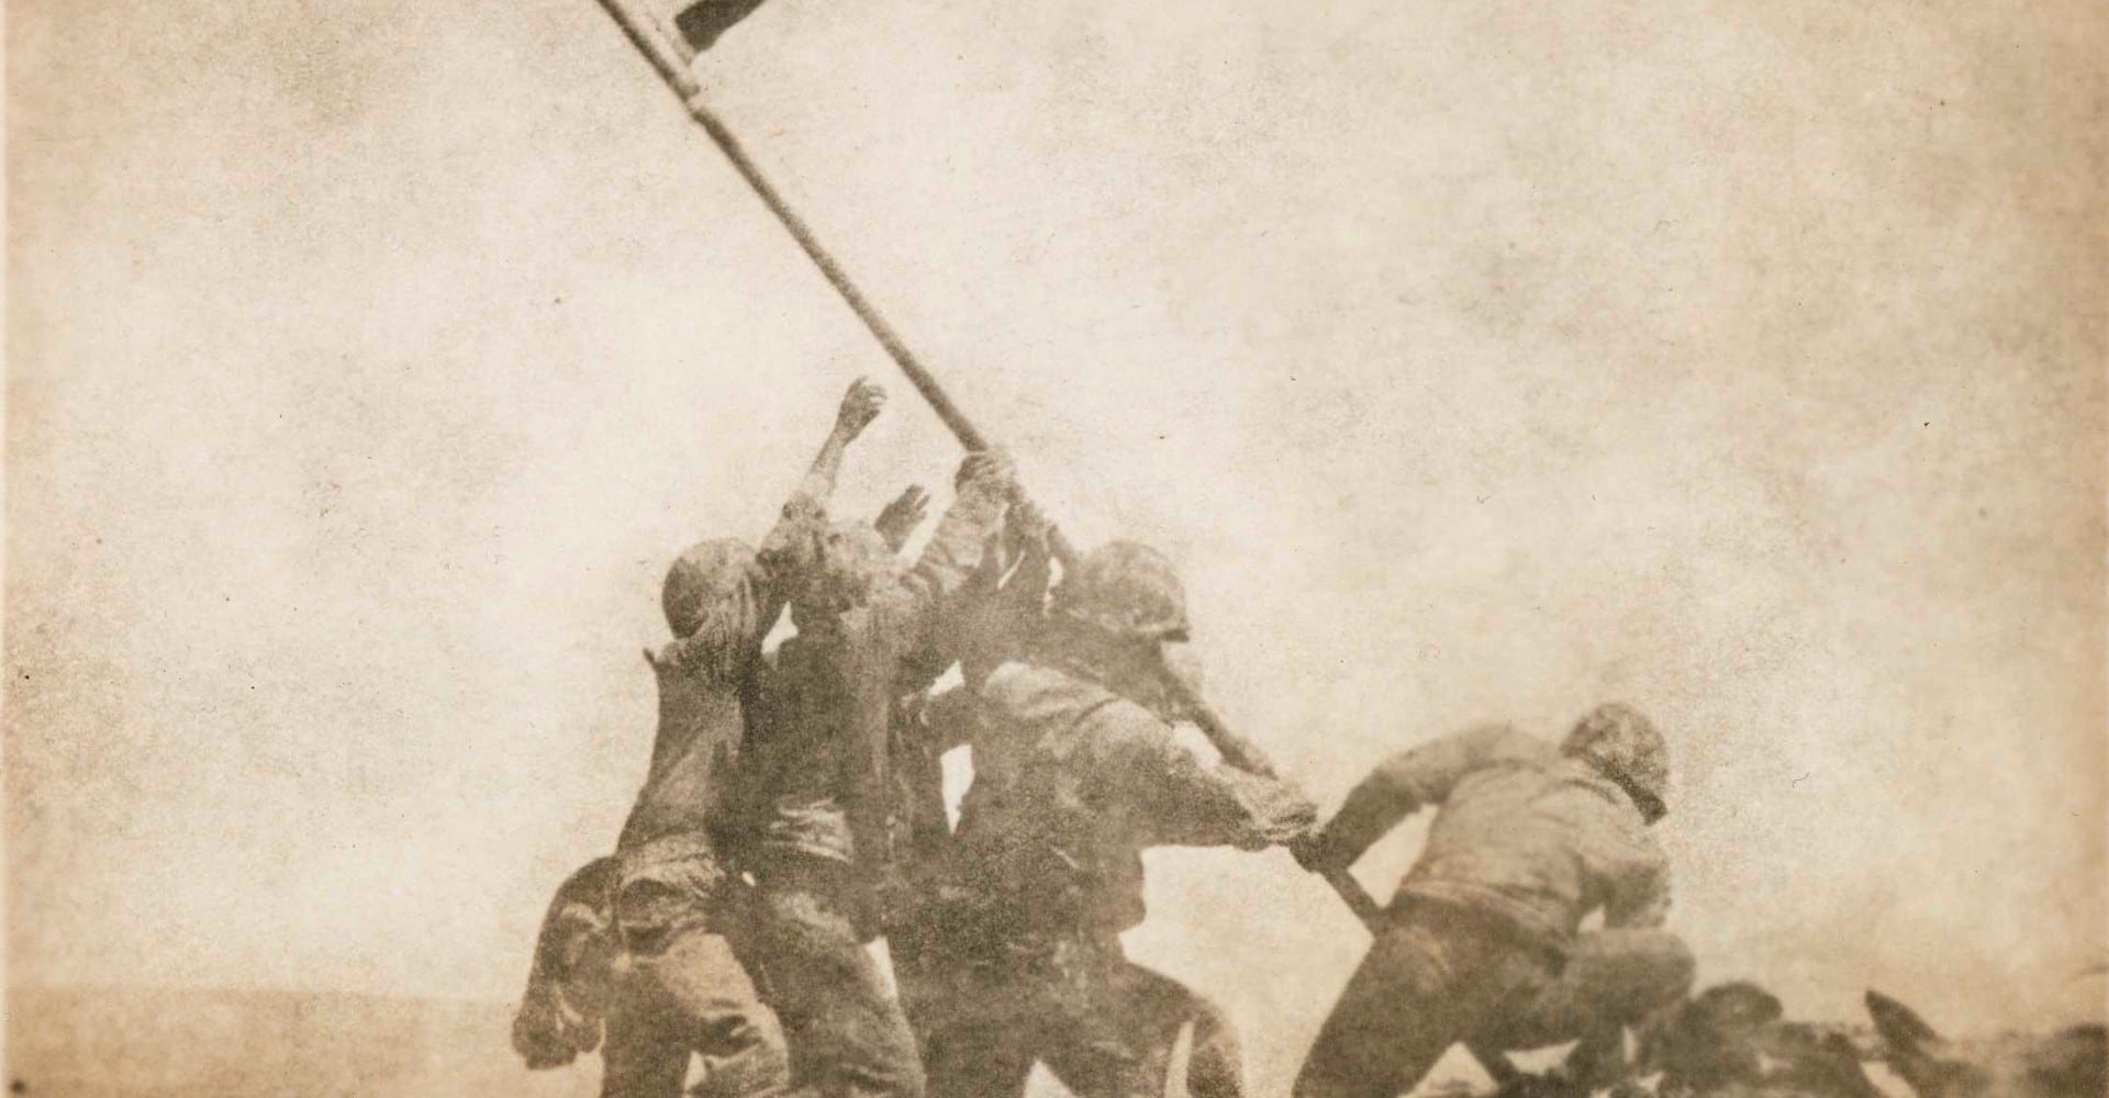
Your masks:
[{"label": "left-hand leg of the crouching man, slanting below the pole's lower end", "polygon": [[1491,932],[1411,913],[1377,936],[1297,1075],[1297,1098],[1396,1098],[1544,961]]}]

